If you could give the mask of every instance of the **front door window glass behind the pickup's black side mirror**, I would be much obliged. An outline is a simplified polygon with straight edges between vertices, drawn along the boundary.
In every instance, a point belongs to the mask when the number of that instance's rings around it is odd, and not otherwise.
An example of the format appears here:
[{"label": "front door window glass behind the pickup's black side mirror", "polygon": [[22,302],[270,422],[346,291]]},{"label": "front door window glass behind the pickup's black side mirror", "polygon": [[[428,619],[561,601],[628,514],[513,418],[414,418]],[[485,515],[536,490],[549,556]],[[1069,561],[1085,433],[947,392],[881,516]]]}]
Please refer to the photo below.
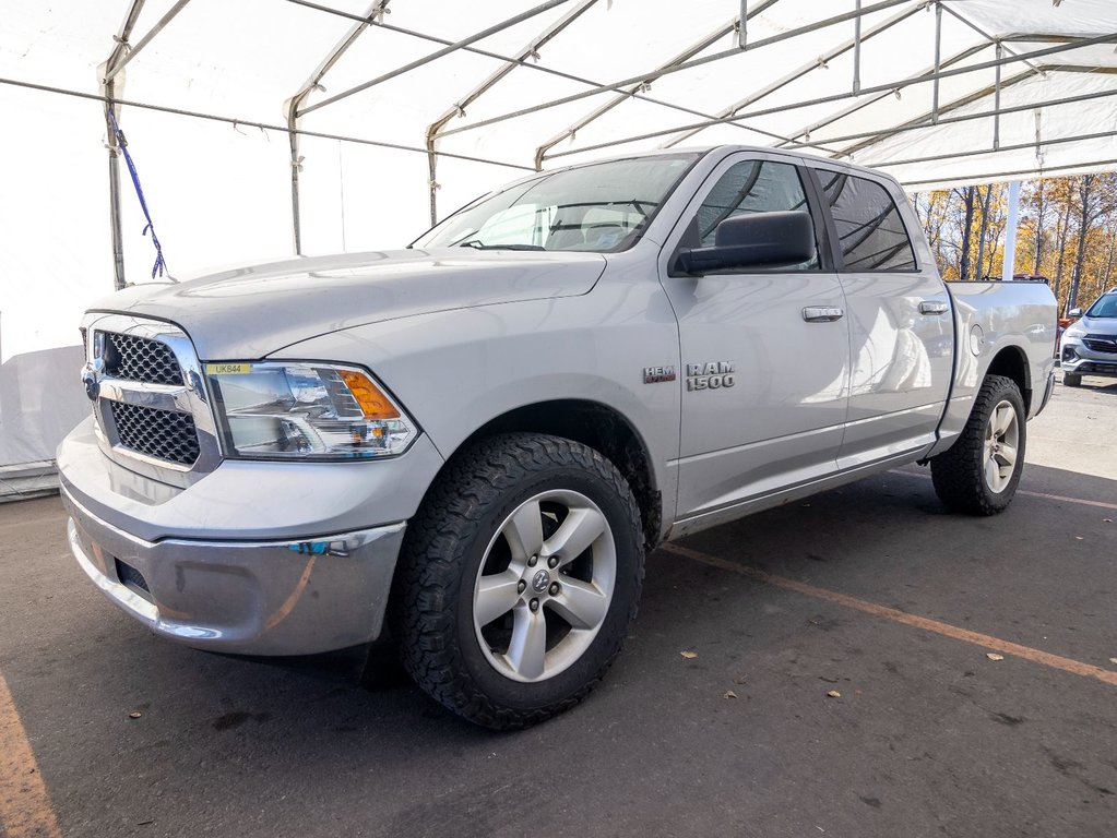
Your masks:
[{"label": "front door window glass behind the pickup's black side mirror", "polygon": [[[726,219],[755,212],[800,210],[810,212],[806,193],[795,166],[789,163],[751,160],[736,163],[723,174],[698,208],[701,247],[714,245],[717,225]],[[817,270],[818,248],[806,262],[777,270]]]}]

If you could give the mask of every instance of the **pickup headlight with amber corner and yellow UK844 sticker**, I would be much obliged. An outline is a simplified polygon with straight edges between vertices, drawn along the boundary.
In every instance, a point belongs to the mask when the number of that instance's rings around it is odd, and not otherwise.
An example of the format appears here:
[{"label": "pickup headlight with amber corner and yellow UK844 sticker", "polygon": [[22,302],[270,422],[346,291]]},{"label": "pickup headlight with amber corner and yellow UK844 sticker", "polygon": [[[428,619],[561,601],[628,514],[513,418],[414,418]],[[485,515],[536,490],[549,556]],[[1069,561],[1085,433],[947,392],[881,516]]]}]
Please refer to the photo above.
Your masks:
[{"label": "pickup headlight with amber corner and yellow UK844 sticker", "polygon": [[362,369],[333,364],[207,364],[229,456],[367,460],[402,454],[416,424]]}]

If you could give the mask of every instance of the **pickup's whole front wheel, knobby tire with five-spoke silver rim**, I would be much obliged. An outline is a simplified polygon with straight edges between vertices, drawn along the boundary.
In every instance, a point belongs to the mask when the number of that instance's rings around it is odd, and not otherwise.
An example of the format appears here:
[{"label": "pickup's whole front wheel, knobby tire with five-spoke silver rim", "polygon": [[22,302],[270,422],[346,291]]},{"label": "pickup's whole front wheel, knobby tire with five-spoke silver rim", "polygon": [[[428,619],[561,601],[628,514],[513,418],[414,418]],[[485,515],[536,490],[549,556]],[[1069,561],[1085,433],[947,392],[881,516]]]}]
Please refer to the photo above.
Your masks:
[{"label": "pickup's whole front wheel, knobby tire with five-spoke silver rim", "polygon": [[640,511],[596,451],[494,436],[428,493],[401,562],[411,676],[471,722],[525,728],[574,706],[620,652],[643,579]]}]

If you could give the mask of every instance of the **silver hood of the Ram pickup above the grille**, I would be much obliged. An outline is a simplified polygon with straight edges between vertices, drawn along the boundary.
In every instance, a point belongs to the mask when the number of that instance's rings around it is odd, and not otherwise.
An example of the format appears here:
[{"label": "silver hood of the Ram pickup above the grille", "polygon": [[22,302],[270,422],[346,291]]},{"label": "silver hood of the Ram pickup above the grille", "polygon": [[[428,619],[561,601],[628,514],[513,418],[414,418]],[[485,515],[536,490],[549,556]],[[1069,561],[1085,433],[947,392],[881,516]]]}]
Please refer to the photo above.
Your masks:
[{"label": "silver hood of the Ram pickup above the grille", "polygon": [[464,248],[346,253],[133,286],[90,310],[170,320],[190,335],[203,360],[252,359],[398,317],[586,293],[604,269],[600,253]]}]

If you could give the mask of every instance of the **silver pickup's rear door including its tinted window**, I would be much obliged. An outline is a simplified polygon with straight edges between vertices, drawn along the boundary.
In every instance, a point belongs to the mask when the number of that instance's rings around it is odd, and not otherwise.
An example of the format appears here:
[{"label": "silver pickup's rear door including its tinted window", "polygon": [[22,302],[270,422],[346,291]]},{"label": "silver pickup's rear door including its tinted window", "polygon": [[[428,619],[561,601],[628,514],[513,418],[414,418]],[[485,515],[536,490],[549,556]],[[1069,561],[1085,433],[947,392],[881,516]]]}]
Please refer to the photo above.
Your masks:
[{"label": "silver pickup's rear door including its tinted window", "polygon": [[[849,425],[842,469],[935,440],[951,386],[954,326],[946,286],[898,204],[894,181],[812,165],[832,219],[849,324]],[[916,237],[919,237],[918,239]],[[918,258],[917,258],[918,253]]]}]

